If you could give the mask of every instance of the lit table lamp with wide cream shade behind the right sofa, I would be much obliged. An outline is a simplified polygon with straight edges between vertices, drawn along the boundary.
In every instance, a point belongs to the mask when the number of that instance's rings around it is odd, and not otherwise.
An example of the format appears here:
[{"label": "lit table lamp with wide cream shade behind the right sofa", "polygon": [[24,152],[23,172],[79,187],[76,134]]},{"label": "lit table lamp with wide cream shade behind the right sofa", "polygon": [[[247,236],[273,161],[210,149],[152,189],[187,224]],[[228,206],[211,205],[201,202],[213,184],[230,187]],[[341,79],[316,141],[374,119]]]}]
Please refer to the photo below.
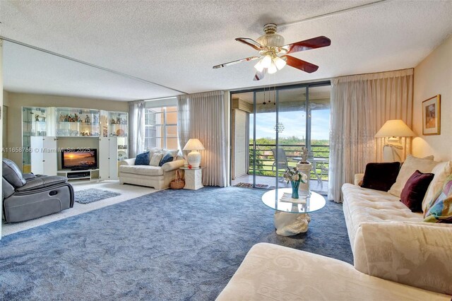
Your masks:
[{"label": "lit table lamp with wide cream shade behind the right sofa", "polygon": [[389,137],[388,142],[383,146],[383,162],[400,162],[402,159],[397,151],[398,149],[403,150],[400,137],[412,136],[416,135],[402,119],[392,119],[385,122],[375,134],[376,138]]}]

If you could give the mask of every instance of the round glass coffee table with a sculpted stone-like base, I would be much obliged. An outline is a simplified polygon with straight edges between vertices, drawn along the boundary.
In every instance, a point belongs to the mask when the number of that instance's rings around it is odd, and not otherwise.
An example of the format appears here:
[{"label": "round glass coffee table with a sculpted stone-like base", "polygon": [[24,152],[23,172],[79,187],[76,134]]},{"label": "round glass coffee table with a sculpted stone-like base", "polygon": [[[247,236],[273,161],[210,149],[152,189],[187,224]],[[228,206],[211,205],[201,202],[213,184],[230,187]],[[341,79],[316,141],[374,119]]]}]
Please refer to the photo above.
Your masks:
[{"label": "round glass coffee table with a sculpted stone-like base", "polygon": [[276,234],[290,236],[307,232],[308,224],[311,221],[308,213],[323,208],[326,204],[325,198],[311,191],[310,196],[305,199],[297,199],[295,203],[282,201],[281,197],[284,193],[292,194],[292,188],[273,189],[262,196],[262,202],[275,210]]}]

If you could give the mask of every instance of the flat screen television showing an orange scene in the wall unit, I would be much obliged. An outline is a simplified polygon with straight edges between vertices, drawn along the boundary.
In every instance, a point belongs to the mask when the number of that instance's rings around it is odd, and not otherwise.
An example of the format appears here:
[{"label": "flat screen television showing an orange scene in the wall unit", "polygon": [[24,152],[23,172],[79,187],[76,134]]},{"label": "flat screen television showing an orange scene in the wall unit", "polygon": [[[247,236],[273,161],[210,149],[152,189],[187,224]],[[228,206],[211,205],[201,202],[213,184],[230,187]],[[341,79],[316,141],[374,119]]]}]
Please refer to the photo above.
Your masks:
[{"label": "flat screen television showing an orange scene in the wall unit", "polygon": [[65,148],[61,151],[61,169],[96,169],[97,149]]}]

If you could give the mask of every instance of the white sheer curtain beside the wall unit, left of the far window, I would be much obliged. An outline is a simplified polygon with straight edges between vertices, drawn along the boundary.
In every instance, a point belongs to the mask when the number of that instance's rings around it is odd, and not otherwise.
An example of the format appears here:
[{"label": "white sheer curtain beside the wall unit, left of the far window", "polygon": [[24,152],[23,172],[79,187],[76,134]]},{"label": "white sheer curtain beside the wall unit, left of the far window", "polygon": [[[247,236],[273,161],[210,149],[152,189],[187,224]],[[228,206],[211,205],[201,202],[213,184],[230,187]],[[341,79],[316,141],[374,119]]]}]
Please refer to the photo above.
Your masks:
[{"label": "white sheer curtain beside the wall unit, left of the far window", "polygon": [[143,100],[129,102],[129,158],[144,150],[144,106]]}]

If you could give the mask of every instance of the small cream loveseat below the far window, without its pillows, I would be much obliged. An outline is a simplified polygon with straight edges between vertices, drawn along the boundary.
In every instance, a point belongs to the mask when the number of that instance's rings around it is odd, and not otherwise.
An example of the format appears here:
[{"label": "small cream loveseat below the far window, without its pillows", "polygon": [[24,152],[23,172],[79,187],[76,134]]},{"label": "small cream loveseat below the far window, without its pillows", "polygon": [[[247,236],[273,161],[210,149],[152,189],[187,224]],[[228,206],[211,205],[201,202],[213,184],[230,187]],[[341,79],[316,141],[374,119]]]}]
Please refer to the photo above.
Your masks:
[{"label": "small cream loveseat below the far window, without its pillows", "polygon": [[[184,166],[185,160],[174,160],[160,166],[135,165],[135,158],[122,160],[119,163],[119,182],[153,187],[157,190],[169,187],[176,178],[176,170]],[[183,177],[183,173],[181,177]]]}]

